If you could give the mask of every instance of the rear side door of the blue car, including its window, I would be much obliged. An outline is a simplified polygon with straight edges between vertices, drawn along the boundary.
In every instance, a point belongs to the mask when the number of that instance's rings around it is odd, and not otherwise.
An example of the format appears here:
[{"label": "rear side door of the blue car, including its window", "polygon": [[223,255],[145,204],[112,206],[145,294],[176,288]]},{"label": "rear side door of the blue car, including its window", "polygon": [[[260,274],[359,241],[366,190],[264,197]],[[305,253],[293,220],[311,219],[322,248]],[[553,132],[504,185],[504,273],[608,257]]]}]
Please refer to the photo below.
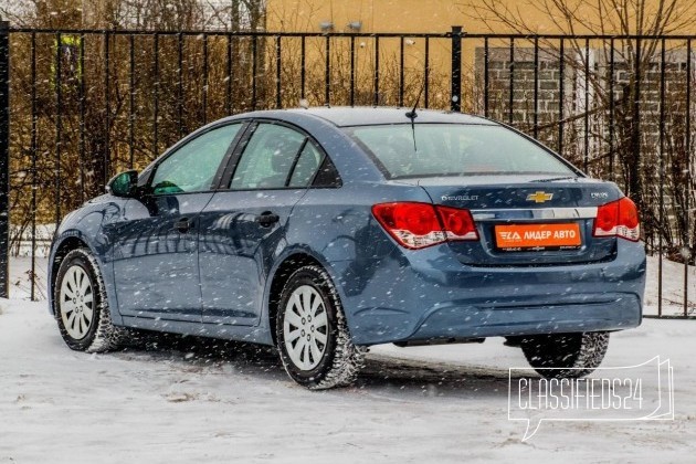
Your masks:
[{"label": "rear side door of the blue car, including its window", "polygon": [[318,165],[321,156],[294,128],[262,122],[247,130],[226,184],[201,214],[204,323],[259,321],[266,276],[283,247],[291,211],[312,181],[316,170],[312,165]]}]

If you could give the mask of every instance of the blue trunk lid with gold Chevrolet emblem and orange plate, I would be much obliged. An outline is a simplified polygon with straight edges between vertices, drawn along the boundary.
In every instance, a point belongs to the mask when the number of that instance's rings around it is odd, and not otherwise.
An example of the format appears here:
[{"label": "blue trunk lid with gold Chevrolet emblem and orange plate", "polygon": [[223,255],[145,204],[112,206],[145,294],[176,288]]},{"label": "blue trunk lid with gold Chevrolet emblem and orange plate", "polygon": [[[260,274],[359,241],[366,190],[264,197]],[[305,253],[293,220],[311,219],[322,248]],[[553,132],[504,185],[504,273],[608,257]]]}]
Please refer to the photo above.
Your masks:
[{"label": "blue trunk lid with gold Chevrolet emblem and orange plate", "polygon": [[613,260],[616,239],[594,238],[597,207],[622,197],[611,182],[582,177],[467,176],[401,180],[434,204],[472,212],[478,241],[451,241],[473,266],[539,266]]}]

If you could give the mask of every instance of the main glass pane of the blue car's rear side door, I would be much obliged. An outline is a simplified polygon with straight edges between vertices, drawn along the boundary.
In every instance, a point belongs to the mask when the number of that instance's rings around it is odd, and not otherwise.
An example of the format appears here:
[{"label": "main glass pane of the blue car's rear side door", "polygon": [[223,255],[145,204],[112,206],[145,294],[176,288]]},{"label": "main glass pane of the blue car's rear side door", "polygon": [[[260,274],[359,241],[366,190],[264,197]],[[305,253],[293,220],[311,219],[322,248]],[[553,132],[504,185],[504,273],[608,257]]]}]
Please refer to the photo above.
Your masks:
[{"label": "main glass pane of the blue car's rear side door", "polygon": [[233,190],[284,188],[305,136],[285,126],[262,123],[234,170]]}]

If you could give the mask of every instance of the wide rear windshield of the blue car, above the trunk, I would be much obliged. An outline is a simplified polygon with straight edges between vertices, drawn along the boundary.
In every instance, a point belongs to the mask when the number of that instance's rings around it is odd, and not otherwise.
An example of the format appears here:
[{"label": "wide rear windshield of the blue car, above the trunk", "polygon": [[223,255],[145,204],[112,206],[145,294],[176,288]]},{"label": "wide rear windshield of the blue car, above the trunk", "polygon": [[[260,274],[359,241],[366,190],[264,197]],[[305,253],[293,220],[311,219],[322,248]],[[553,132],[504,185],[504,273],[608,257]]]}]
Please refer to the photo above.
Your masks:
[{"label": "wide rear windshield of the blue car, above the trunk", "polygon": [[539,173],[576,177],[555,155],[502,126],[397,124],[346,130],[391,179]]}]

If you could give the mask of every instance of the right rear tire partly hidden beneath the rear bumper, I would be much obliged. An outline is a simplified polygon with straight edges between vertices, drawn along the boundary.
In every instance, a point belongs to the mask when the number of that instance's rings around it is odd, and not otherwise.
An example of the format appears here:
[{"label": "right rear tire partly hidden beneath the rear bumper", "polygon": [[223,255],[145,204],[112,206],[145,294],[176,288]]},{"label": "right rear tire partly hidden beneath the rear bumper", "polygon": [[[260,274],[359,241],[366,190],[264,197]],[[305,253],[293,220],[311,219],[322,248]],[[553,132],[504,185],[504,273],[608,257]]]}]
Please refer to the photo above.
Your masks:
[{"label": "right rear tire partly hidden beneath the rear bumper", "polygon": [[609,333],[586,331],[521,337],[529,365],[546,378],[578,378],[592,372],[604,359]]}]

